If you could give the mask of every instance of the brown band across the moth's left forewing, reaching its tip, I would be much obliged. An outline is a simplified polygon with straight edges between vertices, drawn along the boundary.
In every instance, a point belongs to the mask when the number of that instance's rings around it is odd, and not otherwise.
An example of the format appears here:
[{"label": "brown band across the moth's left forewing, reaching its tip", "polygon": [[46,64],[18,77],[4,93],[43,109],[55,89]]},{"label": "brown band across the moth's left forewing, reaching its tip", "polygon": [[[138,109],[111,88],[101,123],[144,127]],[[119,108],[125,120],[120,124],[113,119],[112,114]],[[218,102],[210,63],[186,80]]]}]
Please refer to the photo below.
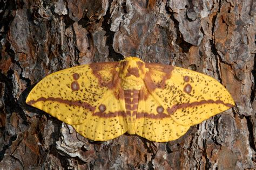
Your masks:
[{"label": "brown band across the moth's left forewing, reaching its tip", "polygon": [[58,102],[58,103],[64,103],[64,104],[69,104],[69,105],[75,105],[78,107],[83,107],[85,109],[88,109],[90,111],[95,111],[95,107],[93,107],[91,104],[87,103],[87,102],[82,102],[82,101],[70,101],[70,100],[64,100],[62,98],[55,98],[55,97],[49,97],[49,98],[45,98],[45,97],[40,97],[37,100],[32,100],[27,102],[27,104],[32,105],[35,104],[37,102],[46,102],[46,101],[52,101],[52,102]]}]

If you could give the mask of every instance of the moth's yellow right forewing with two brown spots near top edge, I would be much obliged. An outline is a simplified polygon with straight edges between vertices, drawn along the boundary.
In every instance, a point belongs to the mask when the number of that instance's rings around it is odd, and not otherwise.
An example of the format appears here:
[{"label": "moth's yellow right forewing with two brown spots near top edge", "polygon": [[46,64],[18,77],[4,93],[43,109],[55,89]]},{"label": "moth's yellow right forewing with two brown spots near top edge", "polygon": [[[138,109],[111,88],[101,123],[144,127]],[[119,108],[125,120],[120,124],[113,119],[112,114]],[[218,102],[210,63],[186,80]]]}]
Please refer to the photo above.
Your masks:
[{"label": "moth's yellow right forewing with two brown spots near top edge", "polygon": [[[154,84],[153,88],[148,88],[150,94],[180,125],[198,124],[234,106],[230,93],[210,76],[166,65],[157,65],[158,69],[152,64],[147,67],[152,73],[149,72],[150,78],[145,84]],[[159,76],[163,73],[165,76]]]}]

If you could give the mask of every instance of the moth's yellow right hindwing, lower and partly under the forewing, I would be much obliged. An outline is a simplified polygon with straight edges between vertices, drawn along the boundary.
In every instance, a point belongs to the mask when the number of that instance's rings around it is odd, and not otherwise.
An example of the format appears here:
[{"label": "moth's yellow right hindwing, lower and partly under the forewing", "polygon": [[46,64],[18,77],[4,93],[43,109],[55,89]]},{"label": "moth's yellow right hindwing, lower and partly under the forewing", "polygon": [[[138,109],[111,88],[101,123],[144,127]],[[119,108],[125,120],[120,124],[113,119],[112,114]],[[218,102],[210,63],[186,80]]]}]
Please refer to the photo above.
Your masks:
[{"label": "moth's yellow right hindwing, lower and partly under the forewing", "polygon": [[159,107],[161,105],[152,95],[139,100],[134,128],[136,134],[151,141],[165,142],[180,138],[190,129],[190,126],[174,122],[167,111]]}]

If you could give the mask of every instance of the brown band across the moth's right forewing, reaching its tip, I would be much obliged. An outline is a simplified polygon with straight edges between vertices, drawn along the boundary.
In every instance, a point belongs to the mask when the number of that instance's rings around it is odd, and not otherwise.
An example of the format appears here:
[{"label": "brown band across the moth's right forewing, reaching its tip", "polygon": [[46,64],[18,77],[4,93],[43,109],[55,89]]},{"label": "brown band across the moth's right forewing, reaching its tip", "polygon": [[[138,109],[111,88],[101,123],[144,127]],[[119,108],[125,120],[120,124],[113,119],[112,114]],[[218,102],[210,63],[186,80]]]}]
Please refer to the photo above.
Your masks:
[{"label": "brown band across the moth's right forewing, reaching its tip", "polygon": [[196,107],[198,105],[203,105],[203,104],[224,104],[226,107],[232,108],[234,105],[230,103],[224,103],[221,100],[201,100],[199,102],[192,102],[192,103],[181,103],[181,104],[175,104],[171,108],[167,108],[167,111],[169,114],[173,114],[178,109],[183,109],[183,108],[192,108]]}]

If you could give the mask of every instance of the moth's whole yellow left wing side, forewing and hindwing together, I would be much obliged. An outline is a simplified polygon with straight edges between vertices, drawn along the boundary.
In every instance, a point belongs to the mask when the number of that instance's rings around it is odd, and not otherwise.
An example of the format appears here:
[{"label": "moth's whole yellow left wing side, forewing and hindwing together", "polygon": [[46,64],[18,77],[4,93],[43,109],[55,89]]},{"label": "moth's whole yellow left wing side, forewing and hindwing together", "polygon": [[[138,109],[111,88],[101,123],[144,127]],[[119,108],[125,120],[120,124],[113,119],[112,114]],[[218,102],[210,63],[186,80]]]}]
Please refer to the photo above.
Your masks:
[{"label": "moth's whole yellow left wing side, forewing and hindwing together", "polygon": [[[92,63],[46,76],[26,103],[72,125],[91,140],[108,140],[127,131],[125,102],[117,73],[118,62]],[[119,91],[120,90],[120,91]]]}]

